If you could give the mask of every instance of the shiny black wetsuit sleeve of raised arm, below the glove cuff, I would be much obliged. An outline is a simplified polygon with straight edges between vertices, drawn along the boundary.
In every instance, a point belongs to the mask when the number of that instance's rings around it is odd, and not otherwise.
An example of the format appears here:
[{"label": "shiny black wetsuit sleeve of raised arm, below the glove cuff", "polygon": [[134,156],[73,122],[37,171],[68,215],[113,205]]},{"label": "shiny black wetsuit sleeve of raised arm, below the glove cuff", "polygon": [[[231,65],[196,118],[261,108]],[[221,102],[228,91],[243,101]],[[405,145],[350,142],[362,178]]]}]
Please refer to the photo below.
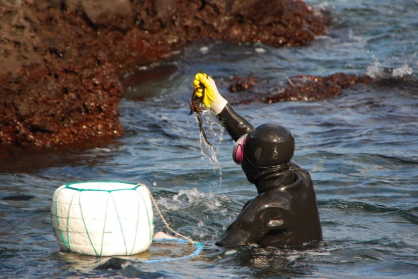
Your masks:
[{"label": "shiny black wetsuit sleeve of raised arm, below the glove cuff", "polygon": [[223,110],[216,115],[223,126],[225,126],[228,133],[231,135],[234,142],[236,142],[242,135],[249,133],[254,126],[241,116],[238,112],[231,107],[230,104],[226,104]]}]

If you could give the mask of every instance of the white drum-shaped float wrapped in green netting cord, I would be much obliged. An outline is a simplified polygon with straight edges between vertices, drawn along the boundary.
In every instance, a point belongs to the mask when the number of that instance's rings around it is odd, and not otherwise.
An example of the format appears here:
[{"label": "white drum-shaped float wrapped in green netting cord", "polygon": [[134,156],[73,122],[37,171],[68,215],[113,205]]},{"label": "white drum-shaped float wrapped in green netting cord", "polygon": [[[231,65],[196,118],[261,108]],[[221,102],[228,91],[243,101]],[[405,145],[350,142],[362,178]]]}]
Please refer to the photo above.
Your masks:
[{"label": "white drum-shaped float wrapped in green netting cord", "polygon": [[149,248],[154,214],[143,184],[68,183],[52,198],[52,225],[64,251],[93,256],[133,255]]}]

